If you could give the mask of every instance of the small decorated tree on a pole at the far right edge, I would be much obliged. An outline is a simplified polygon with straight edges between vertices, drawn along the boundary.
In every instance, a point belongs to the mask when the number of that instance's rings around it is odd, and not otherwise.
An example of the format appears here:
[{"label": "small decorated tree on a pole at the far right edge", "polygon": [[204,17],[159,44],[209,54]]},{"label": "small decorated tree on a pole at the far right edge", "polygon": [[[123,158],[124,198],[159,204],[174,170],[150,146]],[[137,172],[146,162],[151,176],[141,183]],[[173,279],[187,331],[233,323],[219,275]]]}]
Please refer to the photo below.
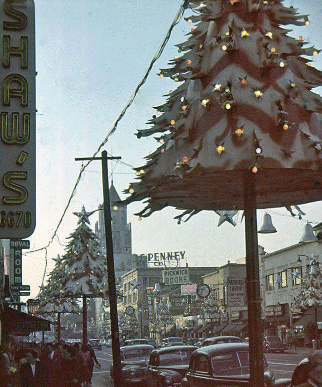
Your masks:
[{"label": "small decorated tree on a pole at the far right edge", "polygon": [[320,306],[322,306],[322,274],[321,269],[317,265],[316,258],[312,254],[308,270],[303,277],[303,282],[301,284],[299,294],[294,299],[293,307],[300,308],[302,310],[309,308],[314,310],[317,340],[317,308]]}]

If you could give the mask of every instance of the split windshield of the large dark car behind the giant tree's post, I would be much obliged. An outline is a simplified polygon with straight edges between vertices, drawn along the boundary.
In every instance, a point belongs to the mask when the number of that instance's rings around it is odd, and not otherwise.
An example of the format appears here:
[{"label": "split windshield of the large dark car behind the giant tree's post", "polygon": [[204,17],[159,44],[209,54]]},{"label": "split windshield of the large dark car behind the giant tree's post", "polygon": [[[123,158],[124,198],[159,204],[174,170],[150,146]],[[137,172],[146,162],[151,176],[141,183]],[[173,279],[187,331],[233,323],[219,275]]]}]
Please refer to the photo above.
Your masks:
[{"label": "split windshield of the large dark car behind the giant tree's post", "polygon": [[[213,356],[211,358],[215,375],[247,375],[249,374],[248,351],[234,351]],[[264,367],[267,366],[264,359]]]}]

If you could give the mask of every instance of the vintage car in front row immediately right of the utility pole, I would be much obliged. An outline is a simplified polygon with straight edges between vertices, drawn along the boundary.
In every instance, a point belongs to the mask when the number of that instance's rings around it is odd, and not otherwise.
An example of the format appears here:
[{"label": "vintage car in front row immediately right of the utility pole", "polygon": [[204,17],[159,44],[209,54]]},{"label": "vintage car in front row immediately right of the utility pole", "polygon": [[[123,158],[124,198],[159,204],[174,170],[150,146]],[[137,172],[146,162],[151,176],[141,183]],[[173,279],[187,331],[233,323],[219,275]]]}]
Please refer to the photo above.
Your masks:
[{"label": "vintage car in front row immediately right of the utility pole", "polygon": [[[154,348],[148,344],[126,345],[120,347],[121,377],[123,385],[138,386],[145,383],[145,370]],[[113,364],[110,366],[110,376],[113,377]]]}]

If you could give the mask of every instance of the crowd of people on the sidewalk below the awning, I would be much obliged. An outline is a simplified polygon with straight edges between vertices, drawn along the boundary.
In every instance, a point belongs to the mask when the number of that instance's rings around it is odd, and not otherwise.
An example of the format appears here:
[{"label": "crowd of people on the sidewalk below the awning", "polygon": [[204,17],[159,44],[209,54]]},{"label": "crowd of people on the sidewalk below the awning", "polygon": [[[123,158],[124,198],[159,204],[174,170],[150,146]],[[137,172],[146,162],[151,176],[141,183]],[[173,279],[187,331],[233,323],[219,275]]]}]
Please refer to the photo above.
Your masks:
[{"label": "crowd of people on the sidewalk below the awning", "polygon": [[89,344],[21,343],[0,346],[0,387],[87,387],[94,364]]}]

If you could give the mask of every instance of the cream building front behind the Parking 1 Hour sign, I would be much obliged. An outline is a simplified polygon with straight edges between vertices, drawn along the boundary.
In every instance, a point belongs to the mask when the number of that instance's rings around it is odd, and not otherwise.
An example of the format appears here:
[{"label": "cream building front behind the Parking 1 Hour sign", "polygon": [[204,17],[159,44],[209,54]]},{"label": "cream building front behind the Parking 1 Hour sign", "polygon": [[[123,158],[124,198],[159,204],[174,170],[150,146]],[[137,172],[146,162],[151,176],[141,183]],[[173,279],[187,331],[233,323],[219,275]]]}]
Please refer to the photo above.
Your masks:
[{"label": "cream building front behind the Parking 1 Hour sign", "polygon": [[243,306],[228,306],[227,281],[228,278],[241,279],[245,284],[246,265],[230,263],[220,266],[216,271],[202,277],[203,282],[211,286],[215,298],[223,309],[223,317],[215,324],[204,324],[201,333],[204,335],[238,334],[247,336],[247,306],[245,286],[243,286]]}]

